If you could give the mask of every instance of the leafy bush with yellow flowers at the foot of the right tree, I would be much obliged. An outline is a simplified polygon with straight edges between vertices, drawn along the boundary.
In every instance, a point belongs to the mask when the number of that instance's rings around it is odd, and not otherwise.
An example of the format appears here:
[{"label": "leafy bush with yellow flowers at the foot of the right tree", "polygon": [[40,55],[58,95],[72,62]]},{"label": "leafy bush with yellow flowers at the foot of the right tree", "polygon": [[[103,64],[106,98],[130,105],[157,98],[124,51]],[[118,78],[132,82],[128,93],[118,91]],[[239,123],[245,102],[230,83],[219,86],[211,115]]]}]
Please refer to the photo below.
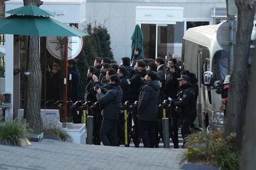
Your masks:
[{"label": "leafy bush with yellow flowers at the foot of the right tree", "polygon": [[221,130],[214,133],[193,131],[185,138],[186,159],[192,163],[217,166],[221,170],[239,170],[240,156],[232,146],[234,138],[236,135],[230,134],[224,139]]}]

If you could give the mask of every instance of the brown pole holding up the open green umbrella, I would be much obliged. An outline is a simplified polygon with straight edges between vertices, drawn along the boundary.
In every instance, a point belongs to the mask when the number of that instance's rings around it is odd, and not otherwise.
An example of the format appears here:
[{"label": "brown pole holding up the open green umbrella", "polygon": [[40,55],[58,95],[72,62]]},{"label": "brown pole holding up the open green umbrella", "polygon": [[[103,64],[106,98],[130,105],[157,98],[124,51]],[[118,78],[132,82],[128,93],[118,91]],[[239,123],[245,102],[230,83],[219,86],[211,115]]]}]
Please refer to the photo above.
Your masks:
[{"label": "brown pole holding up the open green umbrella", "polygon": [[[64,79],[66,79],[63,86],[63,122],[67,122],[67,53],[68,53],[68,37],[65,37],[65,45],[64,45]],[[64,126],[66,124],[64,123]]]}]

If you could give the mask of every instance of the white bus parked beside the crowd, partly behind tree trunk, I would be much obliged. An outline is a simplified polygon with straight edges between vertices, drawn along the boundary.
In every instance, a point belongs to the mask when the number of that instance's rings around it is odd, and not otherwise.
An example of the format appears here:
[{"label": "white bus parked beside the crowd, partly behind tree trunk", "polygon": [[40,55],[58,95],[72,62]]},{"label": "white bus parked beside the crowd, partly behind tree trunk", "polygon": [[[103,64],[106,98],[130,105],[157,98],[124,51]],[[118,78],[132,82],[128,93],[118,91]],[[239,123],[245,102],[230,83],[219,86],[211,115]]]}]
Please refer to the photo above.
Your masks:
[{"label": "white bus parked beside the crowd, partly behind tree trunk", "polygon": [[[224,113],[221,106],[221,86],[227,74],[227,51],[217,42],[217,30],[221,25],[207,25],[189,28],[182,40],[182,61],[184,69],[198,77],[198,114],[194,124],[197,127],[215,131],[223,129]],[[255,24],[251,35],[249,65],[256,45]],[[210,85],[204,82],[205,72],[211,73]]]}]

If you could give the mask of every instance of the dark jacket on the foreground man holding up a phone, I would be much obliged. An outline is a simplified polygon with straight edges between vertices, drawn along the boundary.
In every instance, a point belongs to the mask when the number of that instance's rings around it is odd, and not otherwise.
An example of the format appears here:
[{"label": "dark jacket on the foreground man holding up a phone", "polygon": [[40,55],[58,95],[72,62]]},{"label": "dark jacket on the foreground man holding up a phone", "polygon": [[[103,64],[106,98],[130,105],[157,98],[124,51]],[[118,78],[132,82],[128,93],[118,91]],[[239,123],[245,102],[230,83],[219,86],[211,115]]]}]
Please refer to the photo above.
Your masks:
[{"label": "dark jacket on the foreground man holding up a phone", "polygon": [[96,94],[96,98],[102,105],[102,116],[111,120],[119,120],[119,114],[122,107],[122,89],[118,85],[110,84],[109,91],[102,90],[102,93]]}]

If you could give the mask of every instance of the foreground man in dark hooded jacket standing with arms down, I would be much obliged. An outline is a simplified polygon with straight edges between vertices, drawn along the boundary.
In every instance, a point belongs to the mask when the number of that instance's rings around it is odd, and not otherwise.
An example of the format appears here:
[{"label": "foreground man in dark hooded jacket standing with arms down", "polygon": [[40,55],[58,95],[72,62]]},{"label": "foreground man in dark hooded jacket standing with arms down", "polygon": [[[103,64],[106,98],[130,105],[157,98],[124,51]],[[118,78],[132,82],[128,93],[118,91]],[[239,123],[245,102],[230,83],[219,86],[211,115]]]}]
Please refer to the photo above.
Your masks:
[{"label": "foreground man in dark hooded jacket standing with arms down", "polygon": [[160,93],[160,85],[157,82],[157,74],[147,71],[146,84],[140,91],[138,102],[138,126],[139,134],[144,147],[154,147],[155,144],[155,120],[157,119],[157,102]]}]

